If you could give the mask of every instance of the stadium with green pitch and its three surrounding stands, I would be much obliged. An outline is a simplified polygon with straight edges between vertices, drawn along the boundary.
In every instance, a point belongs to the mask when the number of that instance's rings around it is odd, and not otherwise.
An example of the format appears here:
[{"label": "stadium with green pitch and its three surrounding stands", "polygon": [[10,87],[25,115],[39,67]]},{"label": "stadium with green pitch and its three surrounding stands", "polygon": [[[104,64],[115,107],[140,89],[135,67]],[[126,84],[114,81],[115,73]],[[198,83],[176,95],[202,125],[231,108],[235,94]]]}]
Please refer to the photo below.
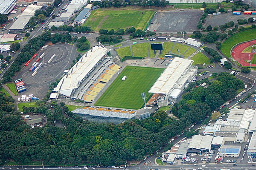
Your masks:
[{"label": "stadium with green pitch and its three surrounding stands", "polygon": [[107,55],[109,51],[101,44],[87,51],[65,73],[51,96],[62,95],[87,103],[88,106],[73,111],[83,119],[117,124],[149,116],[143,110],[137,114],[145,106],[142,93],[145,93],[147,109],[154,105],[167,106],[176,102],[197,74],[193,60],[179,57],[175,57],[167,68],[132,65],[122,68],[111,61]]}]

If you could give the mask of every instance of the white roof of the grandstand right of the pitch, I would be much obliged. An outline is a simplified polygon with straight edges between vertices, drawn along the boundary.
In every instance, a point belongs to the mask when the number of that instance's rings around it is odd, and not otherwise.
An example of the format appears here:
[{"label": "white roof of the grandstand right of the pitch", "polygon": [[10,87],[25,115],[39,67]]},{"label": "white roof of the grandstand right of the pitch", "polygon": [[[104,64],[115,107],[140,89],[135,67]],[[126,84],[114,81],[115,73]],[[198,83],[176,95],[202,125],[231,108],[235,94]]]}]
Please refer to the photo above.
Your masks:
[{"label": "white roof of the grandstand right of the pitch", "polygon": [[170,94],[192,63],[191,59],[175,57],[148,93]]}]

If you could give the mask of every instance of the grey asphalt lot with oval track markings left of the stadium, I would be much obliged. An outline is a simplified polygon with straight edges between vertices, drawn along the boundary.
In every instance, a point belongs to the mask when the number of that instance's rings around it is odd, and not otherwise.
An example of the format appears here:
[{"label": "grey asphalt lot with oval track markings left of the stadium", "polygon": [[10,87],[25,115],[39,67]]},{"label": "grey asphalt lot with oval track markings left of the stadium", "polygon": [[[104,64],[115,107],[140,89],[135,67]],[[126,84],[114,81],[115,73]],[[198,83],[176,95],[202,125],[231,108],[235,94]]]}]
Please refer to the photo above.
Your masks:
[{"label": "grey asphalt lot with oval track markings left of the stadium", "polygon": [[[37,71],[37,74],[32,77],[32,72],[29,72],[29,68],[43,53],[45,55],[39,63],[43,62],[44,64]],[[54,54],[56,55],[55,59],[47,63]],[[72,60],[77,55],[76,47],[67,44],[51,45],[39,51],[38,56],[27,67],[23,66],[22,70],[15,77],[15,79],[22,78],[25,83],[27,91],[22,94],[34,94],[34,96],[42,98],[49,89],[49,84],[63,75],[63,71],[70,67]]]}]

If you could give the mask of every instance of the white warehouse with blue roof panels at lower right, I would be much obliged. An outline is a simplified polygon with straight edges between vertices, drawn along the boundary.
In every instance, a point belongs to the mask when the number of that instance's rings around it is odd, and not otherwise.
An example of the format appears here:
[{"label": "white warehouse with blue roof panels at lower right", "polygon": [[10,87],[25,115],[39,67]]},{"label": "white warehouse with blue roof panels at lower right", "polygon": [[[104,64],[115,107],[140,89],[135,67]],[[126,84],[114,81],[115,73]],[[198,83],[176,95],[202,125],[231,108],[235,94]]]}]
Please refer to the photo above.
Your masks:
[{"label": "white warehouse with blue roof panels at lower right", "polygon": [[220,156],[232,156],[232,157],[239,157],[239,154],[241,152],[241,146],[237,145],[223,145],[220,148],[219,154]]}]

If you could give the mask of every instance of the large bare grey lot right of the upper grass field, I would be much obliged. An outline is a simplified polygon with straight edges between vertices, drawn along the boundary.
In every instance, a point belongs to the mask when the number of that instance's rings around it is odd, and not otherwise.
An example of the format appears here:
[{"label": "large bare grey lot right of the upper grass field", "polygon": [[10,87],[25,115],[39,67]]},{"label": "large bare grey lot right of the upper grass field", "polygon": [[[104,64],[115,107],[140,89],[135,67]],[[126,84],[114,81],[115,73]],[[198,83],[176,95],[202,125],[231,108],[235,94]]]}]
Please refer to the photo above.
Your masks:
[{"label": "large bare grey lot right of the upper grass field", "polygon": [[177,33],[182,32],[183,26],[184,31],[192,32],[198,29],[197,23],[202,14],[200,10],[157,11],[153,24],[148,28],[160,33]]}]

